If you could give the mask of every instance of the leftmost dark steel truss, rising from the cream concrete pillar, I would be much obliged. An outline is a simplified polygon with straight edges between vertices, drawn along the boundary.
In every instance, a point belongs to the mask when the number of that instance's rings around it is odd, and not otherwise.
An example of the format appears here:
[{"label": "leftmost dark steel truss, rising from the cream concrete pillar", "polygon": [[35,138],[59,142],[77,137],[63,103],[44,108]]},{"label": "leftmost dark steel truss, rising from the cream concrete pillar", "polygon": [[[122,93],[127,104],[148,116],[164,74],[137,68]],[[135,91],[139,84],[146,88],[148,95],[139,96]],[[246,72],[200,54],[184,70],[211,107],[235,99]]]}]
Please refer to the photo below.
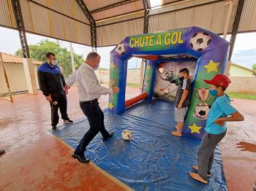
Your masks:
[{"label": "leftmost dark steel truss, rising from the cream concrete pillar", "polygon": [[20,36],[21,50],[23,52],[23,58],[30,58],[29,46],[26,40],[26,31],[23,23],[23,17],[20,7],[20,0],[12,0],[13,12],[15,13],[15,20],[18,28],[18,33]]}]

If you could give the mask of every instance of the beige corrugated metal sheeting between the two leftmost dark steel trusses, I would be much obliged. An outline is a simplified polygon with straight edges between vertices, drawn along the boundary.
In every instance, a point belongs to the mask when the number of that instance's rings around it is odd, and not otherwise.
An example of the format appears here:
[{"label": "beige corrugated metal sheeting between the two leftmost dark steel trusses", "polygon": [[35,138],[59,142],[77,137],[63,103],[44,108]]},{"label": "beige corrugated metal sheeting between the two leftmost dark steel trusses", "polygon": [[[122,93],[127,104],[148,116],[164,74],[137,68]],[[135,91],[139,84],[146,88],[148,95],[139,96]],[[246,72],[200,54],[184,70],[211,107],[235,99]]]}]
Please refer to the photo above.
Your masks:
[{"label": "beige corrugated metal sheeting between the two leftmost dark steel trusses", "polygon": [[[30,0],[20,0],[26,31],[56,39],[63,39],[69,42],[91,44],[90,26],[84,23],[87,18],[83,21],[80,21],[82,19],[76,19],[80,17],[81,14],[83,14],[83,17],[86,16],[75,0],[58,0],[54,1],[54,3],[53,1],[47,1],[48,4],[46,4],[46,6],[51,9],[59,7],[56,9],[58,12],[47,9],[47,7],[42,7],[41,4],[45,5],[45,0],[37,0],[37,2],[39,2],[39,4]],[[72,6],[68,8],[67,5],[69,2],[72,2]],[[76,9],[78,9],[78,12]]]}]

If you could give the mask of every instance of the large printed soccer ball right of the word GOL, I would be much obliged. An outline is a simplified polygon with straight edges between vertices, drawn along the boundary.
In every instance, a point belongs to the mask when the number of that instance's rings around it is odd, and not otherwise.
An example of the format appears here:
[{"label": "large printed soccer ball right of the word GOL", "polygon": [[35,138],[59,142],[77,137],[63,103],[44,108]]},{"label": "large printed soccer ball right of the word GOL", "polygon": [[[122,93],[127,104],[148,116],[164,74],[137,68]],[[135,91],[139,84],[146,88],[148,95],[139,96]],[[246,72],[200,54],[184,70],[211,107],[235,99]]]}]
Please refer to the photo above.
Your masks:
[{"label": "large printed soccer ball right of the word GOL", "polygon": [[198,32],[190,39],[190,47],[197,51],[206,49],[209,44],[211,44],[211,36],[207,33]]}]

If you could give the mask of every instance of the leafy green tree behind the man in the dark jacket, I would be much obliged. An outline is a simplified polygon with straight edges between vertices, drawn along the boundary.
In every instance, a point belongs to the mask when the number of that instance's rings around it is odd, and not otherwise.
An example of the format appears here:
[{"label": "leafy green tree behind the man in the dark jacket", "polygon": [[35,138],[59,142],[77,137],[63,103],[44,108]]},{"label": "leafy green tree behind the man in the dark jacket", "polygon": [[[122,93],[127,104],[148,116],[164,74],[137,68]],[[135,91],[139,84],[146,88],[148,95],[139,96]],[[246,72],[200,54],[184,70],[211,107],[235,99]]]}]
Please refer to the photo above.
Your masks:
[{"label": "leafy green tree behind the man in the dark jacket", "polygon": [[[57,63],[61,66],[64,77],[67,78],[69,74],[72,73],[71,56],[67,48],[63,48],[56,42],[48,40],[42,40],[38,44],[29,45],[30,57],[34,60],[45,62],[47,52],[53,52],[56,55]],[[23,57],[22,50],[17,50],[15,55]],[[78,67],[83,63],[83,56],[74,53],[74,60],[75,69],[78,69]]]}]

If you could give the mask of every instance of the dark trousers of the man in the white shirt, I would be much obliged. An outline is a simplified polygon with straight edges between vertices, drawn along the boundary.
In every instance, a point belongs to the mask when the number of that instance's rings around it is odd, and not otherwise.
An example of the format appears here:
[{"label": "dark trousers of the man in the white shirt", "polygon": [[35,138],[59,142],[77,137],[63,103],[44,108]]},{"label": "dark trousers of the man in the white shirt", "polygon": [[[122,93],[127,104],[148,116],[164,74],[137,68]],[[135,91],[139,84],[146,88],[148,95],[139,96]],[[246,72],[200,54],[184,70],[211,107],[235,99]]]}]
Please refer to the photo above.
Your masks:
[{"label": "dark trousers of the man in the white shirt", "polygon": [[102,109],[99,107],[99,102],[97,99],[93,101],[83,101],[80,102],[80,108],[83,114],[86,115],[89,121],[90,128],[81,139],[78,147],[75,149],[75,155],[84,156],[87,145],[94,139],[97,133],[102,133],[103,137],[108,136],[108,131],[105,129],[104,125],[104,114]]}]

